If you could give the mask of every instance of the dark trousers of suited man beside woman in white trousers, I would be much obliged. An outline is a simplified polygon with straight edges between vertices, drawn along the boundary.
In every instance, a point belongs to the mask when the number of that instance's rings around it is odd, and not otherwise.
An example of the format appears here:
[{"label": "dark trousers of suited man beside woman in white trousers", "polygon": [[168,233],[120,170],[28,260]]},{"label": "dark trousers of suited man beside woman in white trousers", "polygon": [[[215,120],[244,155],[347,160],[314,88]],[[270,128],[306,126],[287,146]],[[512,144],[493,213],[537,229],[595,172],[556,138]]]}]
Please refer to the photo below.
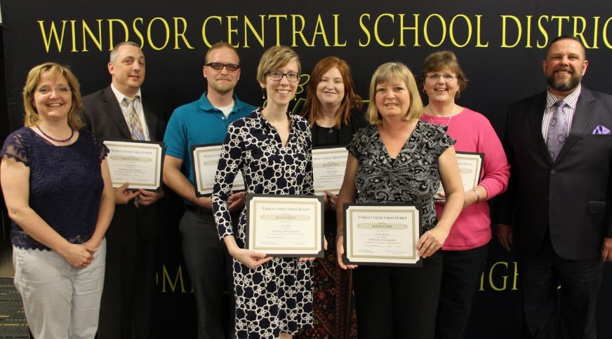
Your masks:
[{"label": "dark trousers of suited man beside woman in white trousers", "polygon": [[151,338],[156,240],[107,244],[98,339]]}]

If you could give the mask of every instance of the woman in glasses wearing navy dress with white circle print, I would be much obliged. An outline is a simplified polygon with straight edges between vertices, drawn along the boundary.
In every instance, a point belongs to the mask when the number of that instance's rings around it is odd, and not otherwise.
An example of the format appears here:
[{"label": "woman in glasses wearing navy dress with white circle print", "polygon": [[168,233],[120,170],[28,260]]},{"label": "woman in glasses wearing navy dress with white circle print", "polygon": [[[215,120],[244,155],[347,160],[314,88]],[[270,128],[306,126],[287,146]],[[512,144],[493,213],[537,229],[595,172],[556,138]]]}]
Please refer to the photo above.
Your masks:
[{"label": "woman in glasses wearing navy dress with white circle print", "polygon": [[213,191],[219,235],[234,257],[236,338],[291,338],[312,326],[311,263],[308,258],[270,258],[244,249],[246,209],[237,233],[227,199],[237,172],[247,194],[313,195],[310,127],[288,112],[300,80],[298,55],[274,46],[261,57],[257,78],[267,105],[234,121],[227,130]]}]

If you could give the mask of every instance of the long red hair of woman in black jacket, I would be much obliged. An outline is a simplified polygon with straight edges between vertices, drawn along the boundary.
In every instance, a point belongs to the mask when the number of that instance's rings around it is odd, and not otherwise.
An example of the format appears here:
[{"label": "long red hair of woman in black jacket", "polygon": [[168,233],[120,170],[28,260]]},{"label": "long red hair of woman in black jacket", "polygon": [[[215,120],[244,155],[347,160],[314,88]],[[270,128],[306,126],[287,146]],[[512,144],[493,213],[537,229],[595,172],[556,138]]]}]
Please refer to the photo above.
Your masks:
[{"label": "long red hair of woman in black jacket", "polygon": [[335,116],[335,127],[348,125],[353,109],[361,109],[361,97],[355,92],[355,85],[351,76],[351,68],[344,60],[339,57],[326,57],[319,60],[314,65],[310,73],[310,81],[306,95],[306,102],[302,107],[302,116],[307,118],[310,125],[314,125],[315,120],[321,115],[321,105],[317,98],[317,86],[321,82],[323,75],[333,68],[338,69],[342,75],[342,83],[345,86],[345,96]]}]

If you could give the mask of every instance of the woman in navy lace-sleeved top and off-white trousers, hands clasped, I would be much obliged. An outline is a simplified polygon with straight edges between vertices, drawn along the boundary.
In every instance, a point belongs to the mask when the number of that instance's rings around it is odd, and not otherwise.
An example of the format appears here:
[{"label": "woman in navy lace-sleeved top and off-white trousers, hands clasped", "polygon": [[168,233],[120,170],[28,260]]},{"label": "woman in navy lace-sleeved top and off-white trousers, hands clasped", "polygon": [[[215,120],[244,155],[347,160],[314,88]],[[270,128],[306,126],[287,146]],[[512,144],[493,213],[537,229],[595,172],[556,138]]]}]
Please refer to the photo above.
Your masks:
[{"label": "woman in navy lace-sleeved top and off-white trousers, hands clasped", "polygon": [[79,131],[79,82],[60,64],[29,71],[25,127],[4,141],[15,287],[35,338],[93,338],[114,198],[108,149]]}]

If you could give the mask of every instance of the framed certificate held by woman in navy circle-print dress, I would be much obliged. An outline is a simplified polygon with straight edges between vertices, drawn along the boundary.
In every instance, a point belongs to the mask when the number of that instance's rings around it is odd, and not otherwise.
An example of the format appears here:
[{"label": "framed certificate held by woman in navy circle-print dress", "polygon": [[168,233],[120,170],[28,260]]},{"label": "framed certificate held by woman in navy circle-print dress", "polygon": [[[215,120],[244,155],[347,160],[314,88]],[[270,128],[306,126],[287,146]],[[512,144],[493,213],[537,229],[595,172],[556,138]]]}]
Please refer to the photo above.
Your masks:
[{"label": "framed certificate held by woman in navy circle-print dress", "polygon": [[322,258],[323,197],[246,195],[246,248],[267,256]]}]

